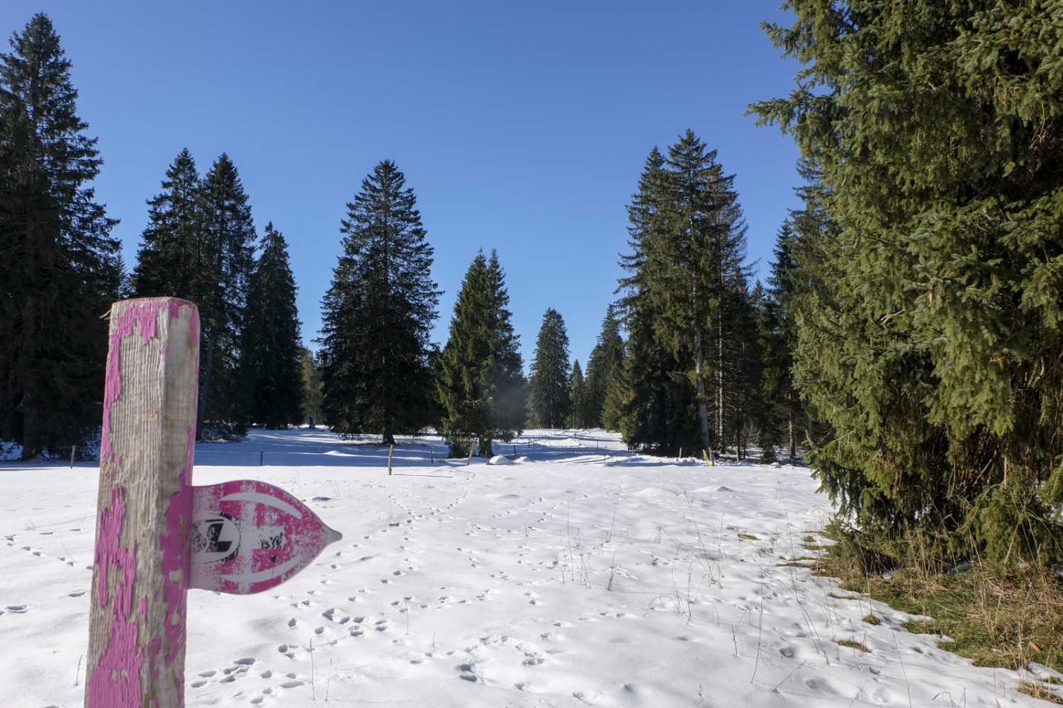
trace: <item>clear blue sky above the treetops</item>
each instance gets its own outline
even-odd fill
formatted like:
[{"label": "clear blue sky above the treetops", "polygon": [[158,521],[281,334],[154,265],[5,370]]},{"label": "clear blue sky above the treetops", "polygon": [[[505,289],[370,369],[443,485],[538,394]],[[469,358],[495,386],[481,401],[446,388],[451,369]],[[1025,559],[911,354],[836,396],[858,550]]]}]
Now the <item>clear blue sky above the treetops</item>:
[{"label": "clear blue sky above the treetops", "polygon": [[272,221],[288,240],[310,344],[345,204],[391,159],[445,291],[434,339],[476,251],[496,248],[525,365],[550,307],[586,365],[643,162],[687,128],[736,175],[766,273],[797,151],[743,113],[793,85],[759,28],[787,22],[779,2],[3,0],[0,30],[55,24],[129,267],[178,153],[203,173],[225,152],[259,234]]}]

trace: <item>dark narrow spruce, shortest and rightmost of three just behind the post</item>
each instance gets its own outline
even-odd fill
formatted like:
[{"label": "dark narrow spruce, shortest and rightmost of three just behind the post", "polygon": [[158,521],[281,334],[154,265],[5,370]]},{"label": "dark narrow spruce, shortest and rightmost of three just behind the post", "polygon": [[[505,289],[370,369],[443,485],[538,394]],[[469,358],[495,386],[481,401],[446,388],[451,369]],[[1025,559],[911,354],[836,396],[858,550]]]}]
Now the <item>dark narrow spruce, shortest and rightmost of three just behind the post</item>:
[{"label": "dark narrow spruce, shortest and rightmost of three just behind the post", "polygon": [[279,429],[303,417],[303,347],[288,244],[272,223],[266,225],[261,248],[249,282],[239,375],[251,419]]}]

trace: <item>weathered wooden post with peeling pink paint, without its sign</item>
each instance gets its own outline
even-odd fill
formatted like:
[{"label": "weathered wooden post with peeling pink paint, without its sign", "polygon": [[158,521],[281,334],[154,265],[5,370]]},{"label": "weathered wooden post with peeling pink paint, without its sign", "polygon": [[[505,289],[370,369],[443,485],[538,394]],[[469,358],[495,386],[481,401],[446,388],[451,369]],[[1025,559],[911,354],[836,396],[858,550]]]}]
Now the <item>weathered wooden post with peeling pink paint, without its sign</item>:
[{"label": "weathered wooden post with peeling pink paint, without its sign", "polygon": [[199,314],[111,308],[86,708],[184,706]]}]

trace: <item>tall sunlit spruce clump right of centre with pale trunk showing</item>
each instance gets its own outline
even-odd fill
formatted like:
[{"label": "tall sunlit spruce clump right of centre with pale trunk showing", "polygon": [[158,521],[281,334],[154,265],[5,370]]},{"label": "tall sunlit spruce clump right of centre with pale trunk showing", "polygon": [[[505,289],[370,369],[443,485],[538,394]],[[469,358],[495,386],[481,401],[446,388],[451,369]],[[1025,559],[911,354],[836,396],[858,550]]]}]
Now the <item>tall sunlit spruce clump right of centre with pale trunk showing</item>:
[{"label": "tall sunlit spruce clump right of centre with pale trunk showing", "polygon": [[[655,148],[628,207],[634,253],[621,262],[629,274],[621,280],[622,305],[635,323],[629,327],[641,328],[635,341],[652,349],[639,358],[662,368],[628,369],[634,376],[629,396],[635,398],[628,400],[624,415],[656,410],[659,425],[678,421],[686,408],[682,401],[651,405],[638,396],[657,396],[654,387],[660,390],[665,379],[678,384],[686,377],[694,390],[699,430],[699,439],[691,447],[712,450],[730,439],[741,455],[749,408],[745,392],[754,376],[746,364],[756,359],[744,334],[753,310],[744,264],[745,224],[735,178],[723,173],[715,157],[715,151],[690,131],[669,148],[667,157]],[[635,356],[634,350],[630,353]],[[678,441],[678,430],[654,434],[638,420],[626,426],[638,430],[641,444],[651,448],[671,447],[664,441]]]}]

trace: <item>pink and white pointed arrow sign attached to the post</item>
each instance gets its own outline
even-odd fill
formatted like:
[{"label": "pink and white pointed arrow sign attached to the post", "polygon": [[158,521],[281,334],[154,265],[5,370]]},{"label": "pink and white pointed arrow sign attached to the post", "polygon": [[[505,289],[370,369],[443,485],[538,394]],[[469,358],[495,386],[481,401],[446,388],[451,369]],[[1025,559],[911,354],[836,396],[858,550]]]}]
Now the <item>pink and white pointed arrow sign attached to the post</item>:
[{"label": "pink and white pointed arrow sign attached to the post", "polygon": [[256,480],[192,487],[188,587],[261,592],[342,538],[290,494]]}]

